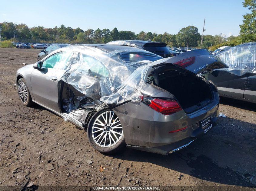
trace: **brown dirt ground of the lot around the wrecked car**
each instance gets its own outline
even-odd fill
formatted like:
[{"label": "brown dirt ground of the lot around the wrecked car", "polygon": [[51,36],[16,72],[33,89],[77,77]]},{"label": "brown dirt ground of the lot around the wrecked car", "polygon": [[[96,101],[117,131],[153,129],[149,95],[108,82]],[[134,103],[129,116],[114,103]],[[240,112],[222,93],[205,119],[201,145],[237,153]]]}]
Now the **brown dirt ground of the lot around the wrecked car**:
[{"label": "brown dirt ground of the lot around the wrecked car", "polygon": [[35,63],[39,52],[0,48],[0,186],[20,186],[25,177],[39,186],[256,185],[256,104],[221,98],[227,117],[173,154],[103,155],[85,131],[41,106],[21,104],[16,71]]}]

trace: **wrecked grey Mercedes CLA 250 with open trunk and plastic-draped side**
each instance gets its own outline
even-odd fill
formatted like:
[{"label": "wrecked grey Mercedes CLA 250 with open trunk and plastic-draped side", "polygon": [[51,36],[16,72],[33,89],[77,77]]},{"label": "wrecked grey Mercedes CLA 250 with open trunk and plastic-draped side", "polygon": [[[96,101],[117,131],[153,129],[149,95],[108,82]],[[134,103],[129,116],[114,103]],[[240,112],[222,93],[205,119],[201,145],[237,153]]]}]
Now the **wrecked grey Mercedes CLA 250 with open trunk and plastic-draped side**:
[{"label": "wrecked grey Mercedes CLA 250 with open trunk and plastic-draped side", "polygon": [[218,123],[219,95],[208,72],[227,67],[208,50],[165,58],[135,47],[58,49],[17,71],[18,96],[86,130],[101,153],[124,147],[168,154]]}]

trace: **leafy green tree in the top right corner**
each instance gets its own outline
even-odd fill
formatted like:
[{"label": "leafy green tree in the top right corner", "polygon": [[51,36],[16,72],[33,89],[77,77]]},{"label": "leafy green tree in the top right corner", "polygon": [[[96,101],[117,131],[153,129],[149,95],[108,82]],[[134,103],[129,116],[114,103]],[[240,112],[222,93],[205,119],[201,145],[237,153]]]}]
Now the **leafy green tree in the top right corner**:
[{"label": "leafy green tree in the top right corner", "polygon": [[243,24],[239,25],[243,42],[256,41],[256,0],[244,0],[244,7],[248,7],[251,13],[243,15]]}]

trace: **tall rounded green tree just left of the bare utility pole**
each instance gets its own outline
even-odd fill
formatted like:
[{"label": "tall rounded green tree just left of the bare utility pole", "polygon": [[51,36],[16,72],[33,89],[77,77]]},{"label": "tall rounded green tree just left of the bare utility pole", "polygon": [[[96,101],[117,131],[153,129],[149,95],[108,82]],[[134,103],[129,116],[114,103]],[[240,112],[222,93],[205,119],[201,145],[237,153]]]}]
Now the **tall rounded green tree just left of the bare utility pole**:
[{"label": "tall rounded green tree just left of the bare utility pole", "polygon": [[200,34],[198,28],[195,26],[188,26],[182,28],[178,34],[176,34],[176,43],[178,46],[197,46]]}]

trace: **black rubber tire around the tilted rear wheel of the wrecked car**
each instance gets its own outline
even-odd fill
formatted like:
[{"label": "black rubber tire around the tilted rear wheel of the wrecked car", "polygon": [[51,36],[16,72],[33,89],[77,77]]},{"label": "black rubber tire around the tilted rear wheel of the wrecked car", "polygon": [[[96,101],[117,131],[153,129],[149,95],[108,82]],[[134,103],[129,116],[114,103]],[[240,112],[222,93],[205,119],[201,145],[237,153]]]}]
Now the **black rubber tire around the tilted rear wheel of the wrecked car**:
[{"label": "black rubber tire around the tilted rear wheel of the wrecked car", "polygon": [[111,109],[103,109],[103,110],[100,110],[98,112],[96,112],[90,122],[89,122],[89,125],[88,125],[88,129],[87,129],[87,135],[88,135],[88,138],[89,138],[89,142],[91,143],[91,146],[103,153],[103,154],[116,154],[118,152],[122,152],[125,150],[125,137],[124,135],[122,135],[122,137],[120,138],[120,140],[113,146],[109,146],[109,147],[101,147],[99,145],[97,145],[95,143],[95,141],[93,140],[93,137],[92,137],[92,127],[93,127],[93,124],[95,122],[95,120],[97,119],[98,116],[100,116],[102,113],[105,113],[106,111],[113,111]]}]

